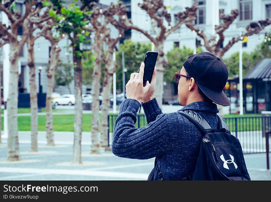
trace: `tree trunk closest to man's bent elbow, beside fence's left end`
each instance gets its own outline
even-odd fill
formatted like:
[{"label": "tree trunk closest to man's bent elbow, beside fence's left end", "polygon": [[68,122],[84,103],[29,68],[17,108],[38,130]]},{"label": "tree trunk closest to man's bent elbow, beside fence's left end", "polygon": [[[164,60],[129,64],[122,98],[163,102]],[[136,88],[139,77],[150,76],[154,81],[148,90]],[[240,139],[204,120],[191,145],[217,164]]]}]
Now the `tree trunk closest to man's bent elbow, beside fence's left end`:
[{"label": "tree trunk closest to man's bent elbow, beside fence's left end", "polygon": [[101,147],[108,147],[108,109],[110,107],[110,90],[113,81],[113,73],[115,72],[115,62],[113,61],[113,54],[108,51],[107,63],[105,64],[105,75],[103,79],[103,102],[101,115]]}]

